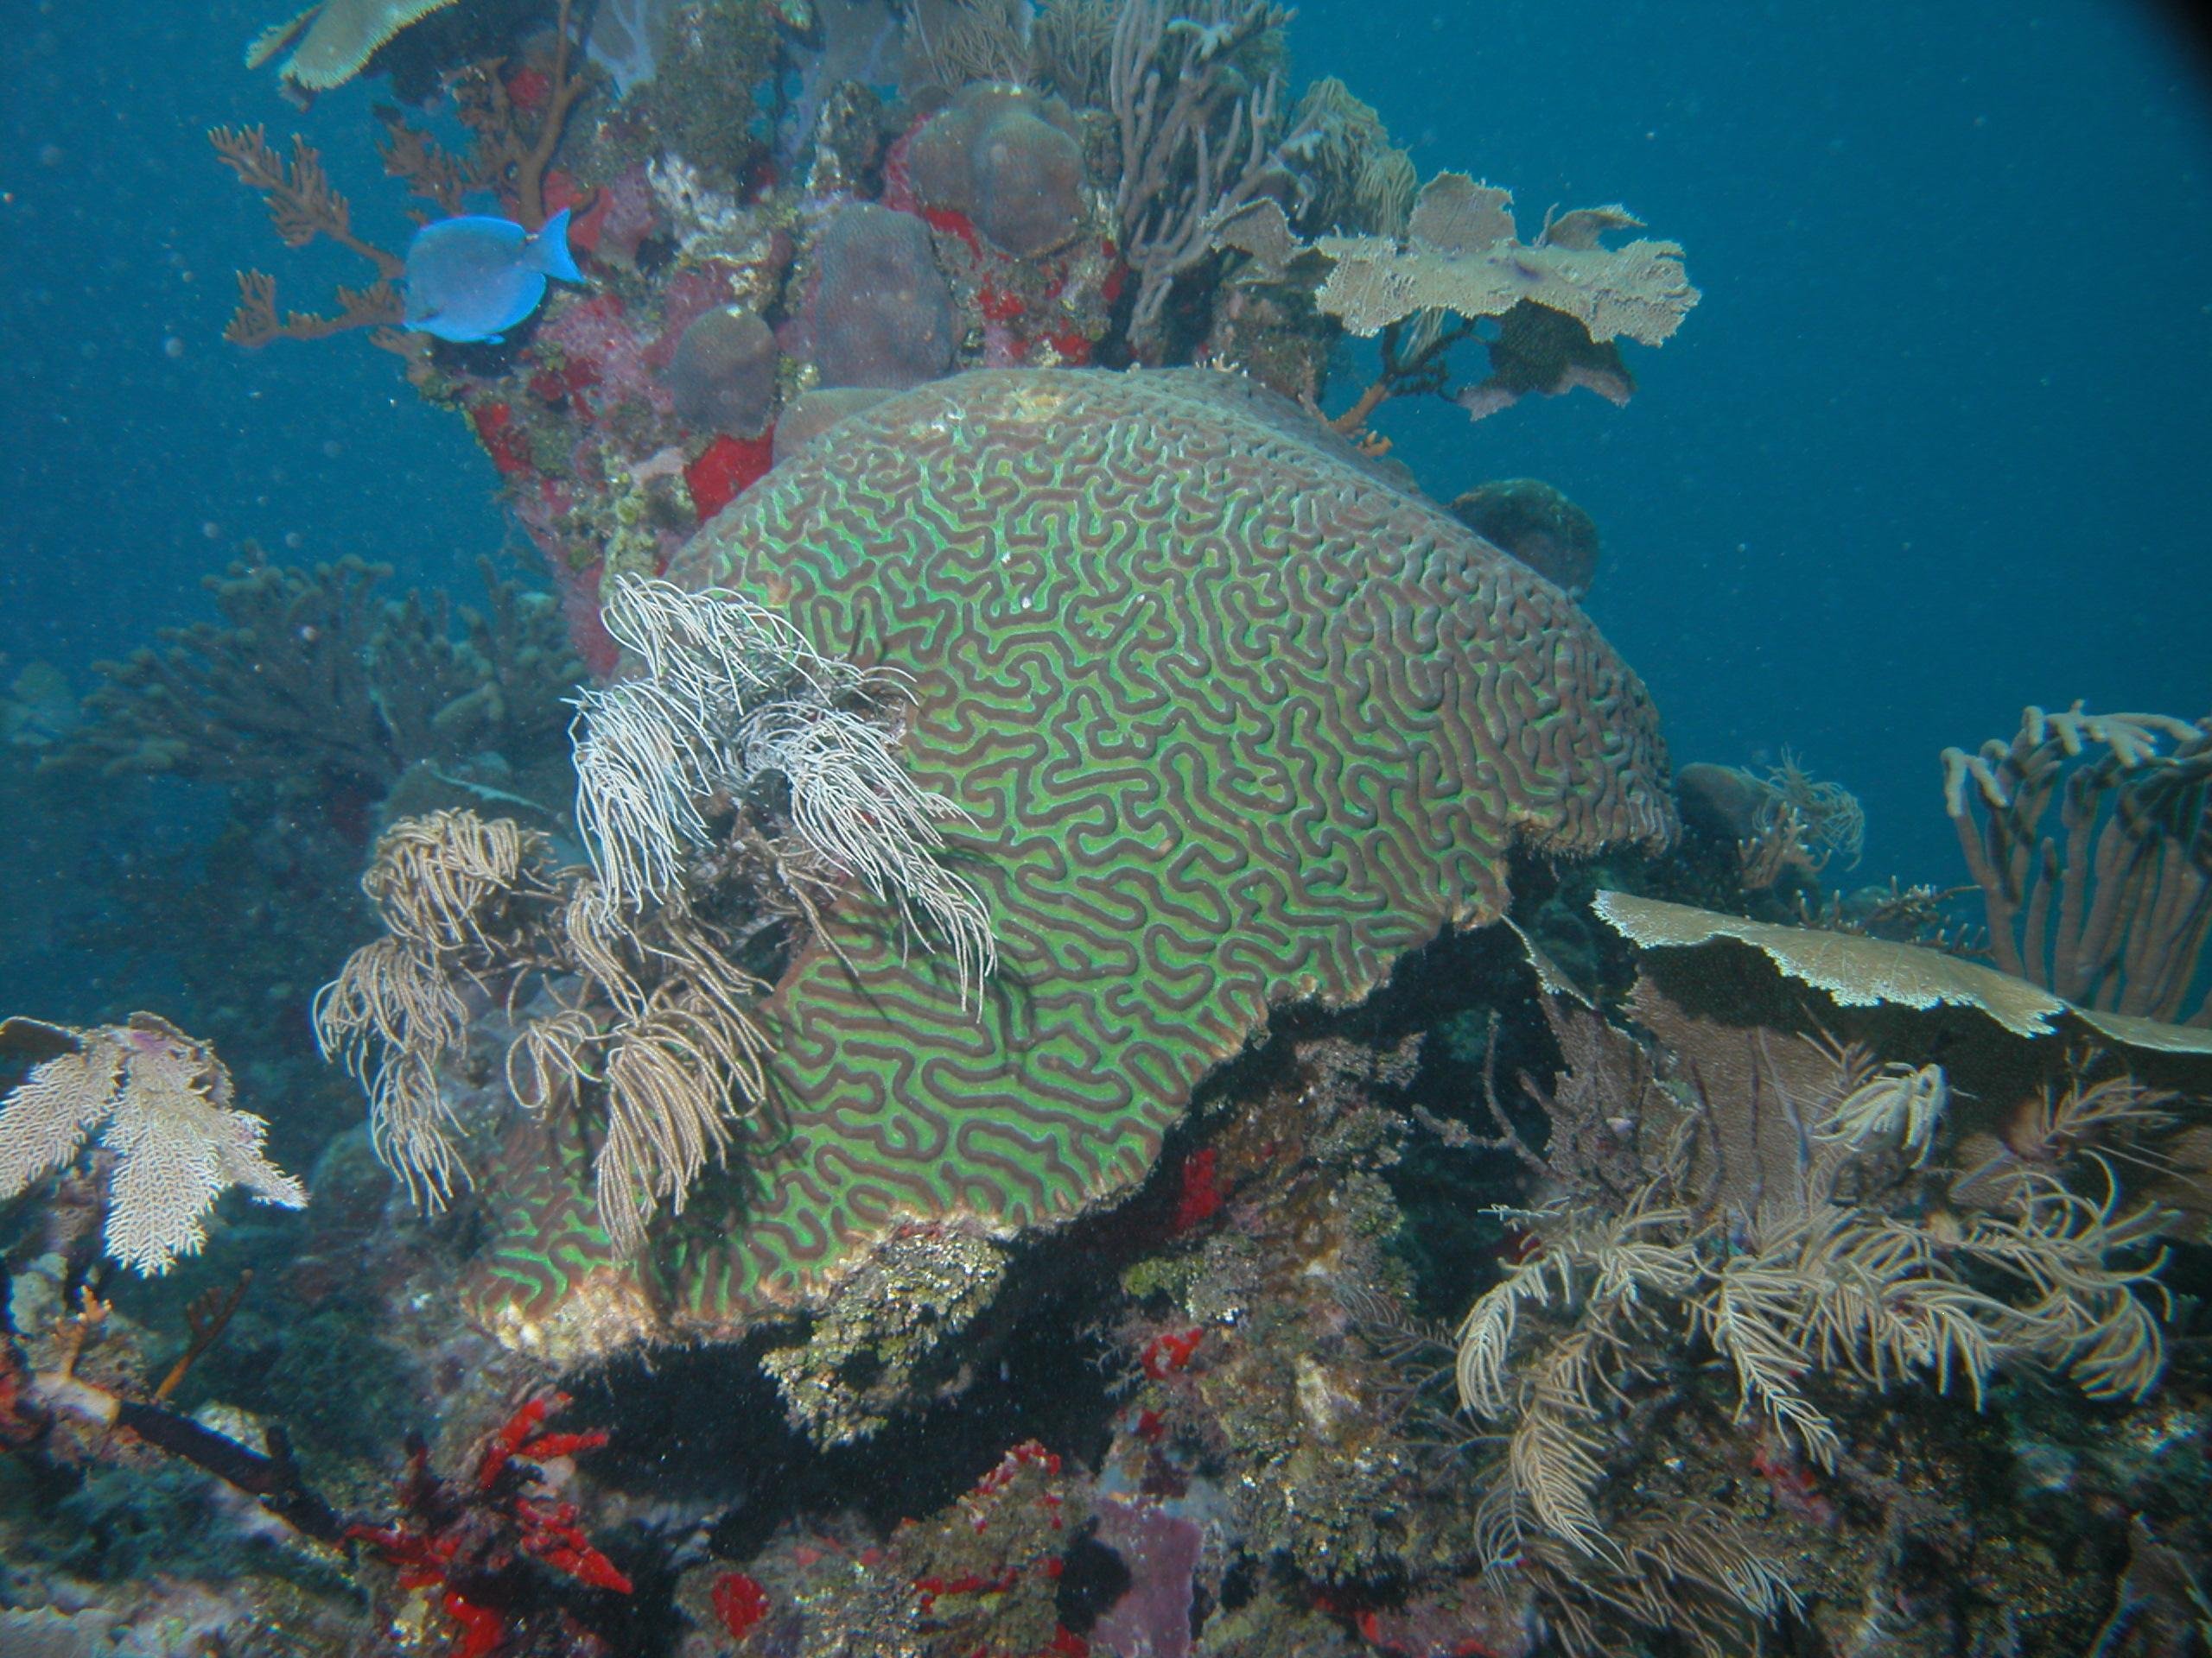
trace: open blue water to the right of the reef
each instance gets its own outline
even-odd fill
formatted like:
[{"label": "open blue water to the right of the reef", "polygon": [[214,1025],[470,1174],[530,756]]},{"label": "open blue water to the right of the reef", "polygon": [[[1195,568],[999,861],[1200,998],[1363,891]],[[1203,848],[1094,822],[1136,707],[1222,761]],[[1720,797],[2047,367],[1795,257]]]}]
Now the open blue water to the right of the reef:
[{"label": "open blue water to the right of the reef", "polygon": [[1312,4],[1298,44],[1422,175],[1688,248],[1626,409],[1433,405],[1402,449],[1597,517],[1588,608],[1677,763],[1792,745],[1867,802],[1863,873],[1947,882],[1944,745],[2212,707],[2212,82],[2170,18]]}]

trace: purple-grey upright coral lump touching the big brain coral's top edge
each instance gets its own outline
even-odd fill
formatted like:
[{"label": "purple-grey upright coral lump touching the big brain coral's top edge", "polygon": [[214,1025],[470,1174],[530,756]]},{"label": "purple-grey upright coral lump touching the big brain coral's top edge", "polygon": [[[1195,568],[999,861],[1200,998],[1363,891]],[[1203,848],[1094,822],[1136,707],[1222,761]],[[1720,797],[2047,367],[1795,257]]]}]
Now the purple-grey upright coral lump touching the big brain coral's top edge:
[{"label": "purple-grey upright coral lump touching the big brain coral's top edge", "polygon": [[953,294],[922,221],[854,201],[816,250],[814,363],[823,385],[905,391],[953,360]]}]

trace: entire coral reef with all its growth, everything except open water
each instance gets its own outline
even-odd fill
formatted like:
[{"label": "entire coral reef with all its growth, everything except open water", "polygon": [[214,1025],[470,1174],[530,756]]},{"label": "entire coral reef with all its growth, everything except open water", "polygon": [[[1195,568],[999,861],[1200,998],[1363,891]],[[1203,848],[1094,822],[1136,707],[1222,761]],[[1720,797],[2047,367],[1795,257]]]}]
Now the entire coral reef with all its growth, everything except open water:
[{"label": "entire coral reef with all its growth, everything except open water", "polygon": [[1681,248],[1290,22],[252,44],[418,228],[215,130],[363,263],[230,340],[389,351],[531,550],[15,681],[122,966],[0,1026],[0,1649],[2205,1647],[2212,721],[1947,752],[1949,889],[1670,769],[1590,517],[1383,427],[1626,400]]}]

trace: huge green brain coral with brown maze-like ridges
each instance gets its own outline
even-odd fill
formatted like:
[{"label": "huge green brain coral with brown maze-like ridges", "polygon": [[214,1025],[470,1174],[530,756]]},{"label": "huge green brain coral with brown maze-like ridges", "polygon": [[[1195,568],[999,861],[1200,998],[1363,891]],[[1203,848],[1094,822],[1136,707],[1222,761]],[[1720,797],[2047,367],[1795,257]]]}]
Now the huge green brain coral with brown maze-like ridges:
[{"label": "huge green brain coral with brown maze-like ridges", "polygon": [[[1223,374],[889,398],[670,577],[914,676],[905,760],[973,814],[958,869],[1000,937],[978,1017],[949,959],[841,904],[768,1006],[781,1130],[664,1260],[681,1331],[816,1298],[909,1220],[1011,1234],[1128,1192],[1270,1006],[1358,1001],[1500,915],[1515,840],[1672,831],[1652,705],[1588,619]],[[509,1214],[513,1315],[588,1271],[575,1216]]]}]

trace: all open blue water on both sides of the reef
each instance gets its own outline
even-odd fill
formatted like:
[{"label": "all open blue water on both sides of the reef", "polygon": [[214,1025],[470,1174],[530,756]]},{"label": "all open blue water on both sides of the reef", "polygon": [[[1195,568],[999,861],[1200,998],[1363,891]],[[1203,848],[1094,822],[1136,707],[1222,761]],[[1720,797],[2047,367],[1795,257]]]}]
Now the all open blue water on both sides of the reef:
[{"label": "all open blue water on both sides of the reef", "polygon": [[[82,679],[201,615],[243,537],[451,581],[507,535],[462,422],[361,338],[219,338],[270,250],[206,126],[307,133],[365,234],[407,228],[361,137],[378,93],[294,119],[239,64],[263,11],[44,0],[0,40],[15,668]],[[1524,221],[1621,201],[1688,248],[1703,305],[1630,351],[1630,407],[1385,422],[1433,493],[1540,475],[1588,506],[1590,610],[1677,760],[1792,745],[1865,798],[1869,875],[1940,882],[1942,745],[2031,701],[2203,712],[2212,91],[2163,13],[1310,0],[1296,71]],[[281,272],[301,303],[354,274],[327,245]]]}]

